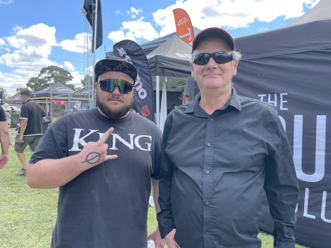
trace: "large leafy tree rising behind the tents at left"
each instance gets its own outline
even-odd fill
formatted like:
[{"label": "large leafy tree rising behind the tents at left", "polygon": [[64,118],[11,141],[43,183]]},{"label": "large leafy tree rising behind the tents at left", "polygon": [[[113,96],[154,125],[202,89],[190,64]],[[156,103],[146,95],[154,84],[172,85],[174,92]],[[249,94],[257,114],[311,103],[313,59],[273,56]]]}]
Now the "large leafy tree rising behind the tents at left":
[{"label": "large leafy tree rising behind the tents at left", "polygon": [[73,76],[67,70],[57,66],[48,66],[40,70],[38,77],[30,78],[29,82],[26,83],[26,86],[33,92],[36,92],[59,81],[67,87],[75,89],[75,86],[72,83],[68,83],[72,79]]}]

